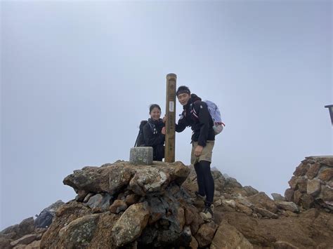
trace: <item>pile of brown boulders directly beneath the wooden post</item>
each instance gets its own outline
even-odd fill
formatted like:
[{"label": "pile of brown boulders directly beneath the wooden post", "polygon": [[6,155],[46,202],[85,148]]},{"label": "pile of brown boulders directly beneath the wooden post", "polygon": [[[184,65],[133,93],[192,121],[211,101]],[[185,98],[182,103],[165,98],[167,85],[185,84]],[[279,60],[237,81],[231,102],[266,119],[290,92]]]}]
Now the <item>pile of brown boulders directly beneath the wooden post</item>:
[{"label": "pile of brown boulders directly beneath the wooden post", "polygon": [[189,173],[181,162],[75,170],[63,182],[76,200],[58,209],[41,248],[170,248],[189,246],[193,236],[209,245],[217,225],[204,224],[181,187]]}]

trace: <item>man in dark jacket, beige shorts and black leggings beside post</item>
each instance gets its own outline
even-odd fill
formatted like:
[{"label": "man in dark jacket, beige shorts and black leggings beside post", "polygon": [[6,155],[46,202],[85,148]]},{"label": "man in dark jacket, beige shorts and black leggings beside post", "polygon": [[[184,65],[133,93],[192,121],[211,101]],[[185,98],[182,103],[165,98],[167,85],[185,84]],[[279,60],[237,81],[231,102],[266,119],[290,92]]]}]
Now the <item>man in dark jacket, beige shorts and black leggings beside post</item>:
[{"label": "man in dark jacket, beige shorts and black leggings beside post", "polygon": [[214,199],[214,179],[211,176],[211,154],[213,152],[215,133],[213,120],[209,114],[207,104],[201,98],[191,94],[187,86],[180,86],[176,92],[178,101],[183,105],[183,113],[176,124],[176,132],[181,133],[187,126],[192,132],[191,165],[197,174],[197,198],[204,198],[204,210],[200,213],[204,220],[214,217],[211,204]]}]

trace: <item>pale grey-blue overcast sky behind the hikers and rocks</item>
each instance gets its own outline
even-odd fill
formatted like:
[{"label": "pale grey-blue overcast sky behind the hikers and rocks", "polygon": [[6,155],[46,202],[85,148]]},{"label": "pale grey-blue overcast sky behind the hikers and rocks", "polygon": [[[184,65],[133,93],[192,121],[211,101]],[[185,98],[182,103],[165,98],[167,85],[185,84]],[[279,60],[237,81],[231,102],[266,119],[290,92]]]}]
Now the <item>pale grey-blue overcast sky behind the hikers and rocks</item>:
[{"label": "pale grey-blue overcast sky behind the hikers and rocks", "polygon": [[283,195],[333,154],[332,1],[1,1],[0,229],[74,198],[73,170],[129,161],[169,73],[220,107],[211,166],[243,186]]}]

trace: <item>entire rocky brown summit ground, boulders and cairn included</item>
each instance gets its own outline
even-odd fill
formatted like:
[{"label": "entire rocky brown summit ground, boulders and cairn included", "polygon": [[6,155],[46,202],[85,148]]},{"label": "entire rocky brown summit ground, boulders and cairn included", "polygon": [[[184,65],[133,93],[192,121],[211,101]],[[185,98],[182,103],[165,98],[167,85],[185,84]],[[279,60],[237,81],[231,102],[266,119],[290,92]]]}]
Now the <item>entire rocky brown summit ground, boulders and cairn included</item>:
[{"label": "entire rocky brown summit ground, boulders and cairn included", "polygon": [[74,170],[77,193],[48,228],[32,217],[0,233],[0,248],[333,248],[333,157],[308,157],[285,196],[214,171],[214,220],[199,213],[195,172],[181,162],[117,161]]}]

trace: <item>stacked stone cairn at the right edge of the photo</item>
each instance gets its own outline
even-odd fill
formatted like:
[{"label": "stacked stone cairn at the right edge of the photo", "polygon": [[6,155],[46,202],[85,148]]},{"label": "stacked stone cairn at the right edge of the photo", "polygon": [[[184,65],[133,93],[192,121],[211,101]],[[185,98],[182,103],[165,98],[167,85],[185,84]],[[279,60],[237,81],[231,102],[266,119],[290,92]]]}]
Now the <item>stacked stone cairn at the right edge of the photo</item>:
[{"label": "stacked stone cairn at the right edge of the photo", "polygon": [[322,207],[333,211],[333,156],[308,156],[296,168],[290,188],[285,191],[287,201],[304,209]]}]

